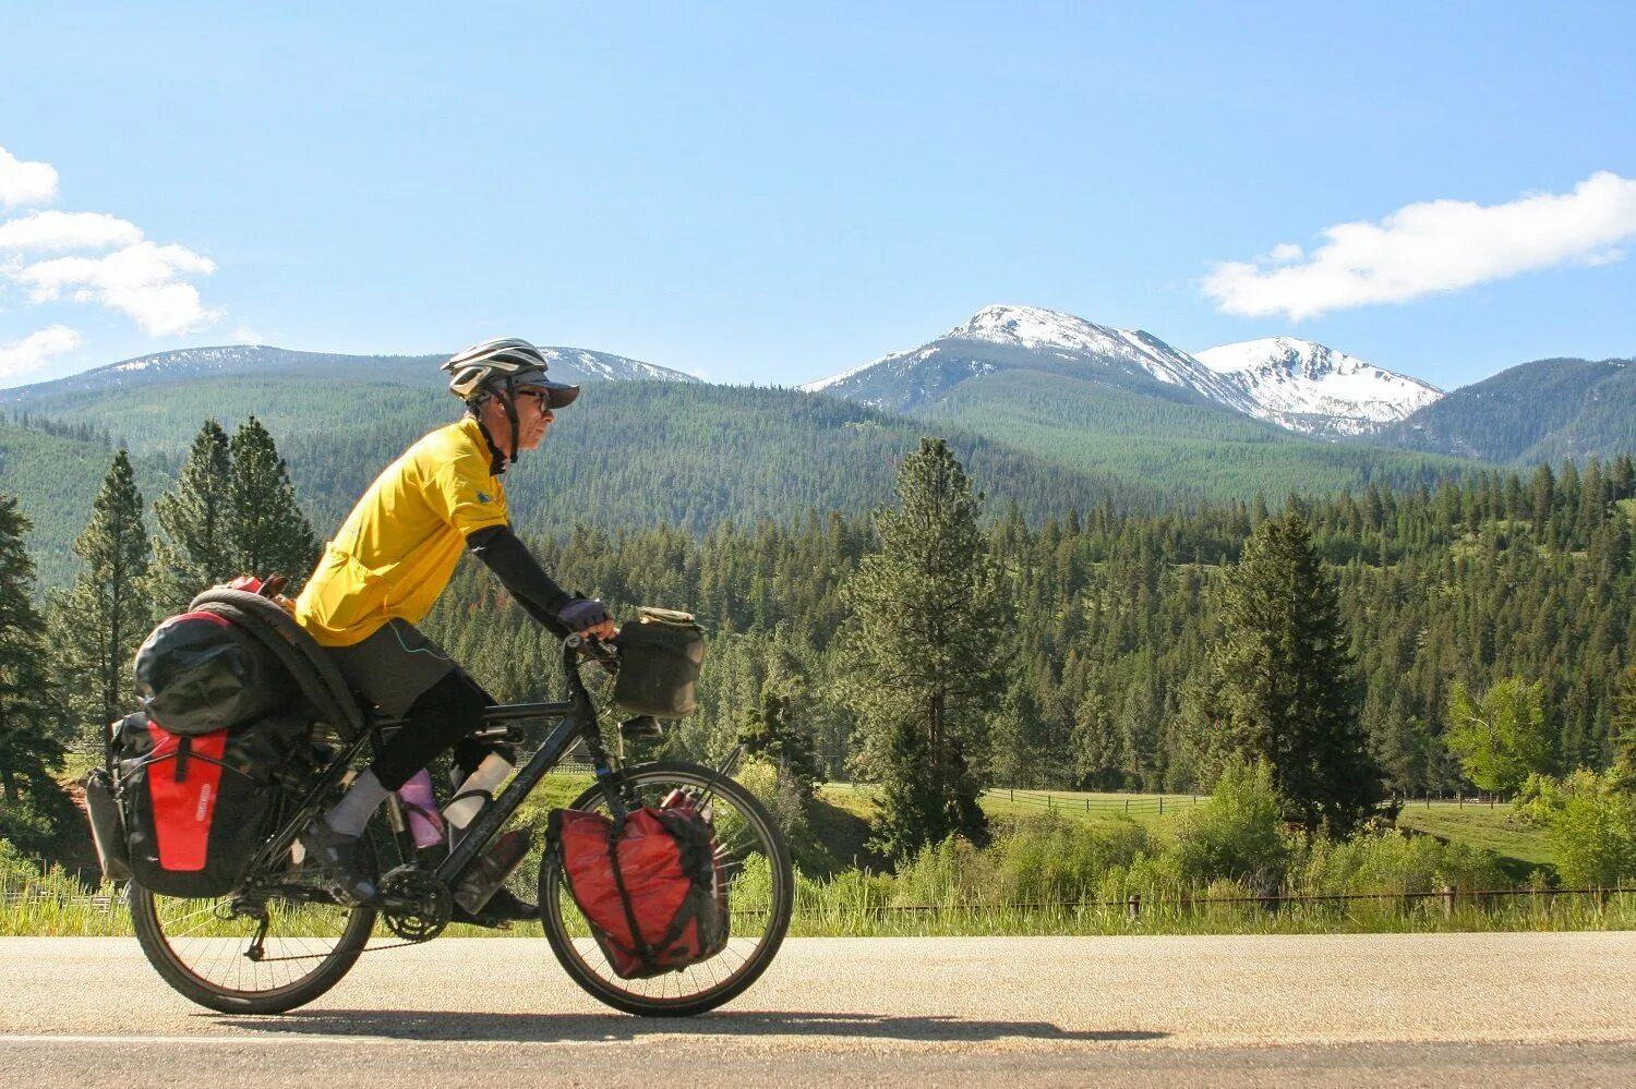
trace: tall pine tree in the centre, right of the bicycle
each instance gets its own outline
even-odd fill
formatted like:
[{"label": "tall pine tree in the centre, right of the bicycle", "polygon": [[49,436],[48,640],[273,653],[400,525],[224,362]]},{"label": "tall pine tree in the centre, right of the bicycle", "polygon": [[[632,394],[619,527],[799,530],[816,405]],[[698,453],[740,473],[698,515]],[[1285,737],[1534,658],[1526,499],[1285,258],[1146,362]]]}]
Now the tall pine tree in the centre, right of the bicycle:
[{"label": "tall pine tree in the centre, right of the bicycle", "polygon": [[977,798],[1008,623],[977,528],[982,497],[944,440],[921,440],[897,494],[897,509],[875,512],[880,549],[844,590],[854,669],[843,683],[861,769],[882,783],[875,845],[903,857],[985,829]]}]

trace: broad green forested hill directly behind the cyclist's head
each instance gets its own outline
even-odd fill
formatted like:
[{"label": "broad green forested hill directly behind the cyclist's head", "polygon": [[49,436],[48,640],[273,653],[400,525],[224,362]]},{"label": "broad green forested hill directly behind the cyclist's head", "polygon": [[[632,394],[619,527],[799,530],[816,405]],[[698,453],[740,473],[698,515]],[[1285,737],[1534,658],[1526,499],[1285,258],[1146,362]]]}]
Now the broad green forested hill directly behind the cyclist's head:
[{"label": "broad green forested hill directly behind the cyclist's head", "polygon": [[[455,419],[460,407],[437,389],[366,394],[342,384],[352,419],[342,425],[303,424],[337,386],[299,376],[254,384],[221,376],[160,388],[178,409],[170,430],[152,427],[146,453],[134,456],[147,502],[175,484],[182,451],[206,415],[232,422],[249,412],[265,422],[319,538],[334,533],[368,482],[411,441]],[[357,394],[357,401],[352,396]],[[249,397],[249,399],[245,399]],[[154,406],[136,397],[141,419]],[[275,409],[275,410],[268,410]],[[275,422],[276,420],[276,422]],[[70,438],[59,419],[0,419],[0,494],[20,497],[34,522],[28,548],[43,587],[62,585],[79,571],[70,544],[90,518],[92,500],[113,448],[105,438]],[[576,527],[620,530],[669,527],[705,536],[721,523],[790,523],[810,512],[861,515],[890,502],[898,466],[924,425],[865,406],[813,397],[793,389],[705,383],[602,383],[564,410],[546,443],[506,476],[512,518],[525,535],[566,536]],[[1181,489],[1122,474],[1078,471],[960,427],[942,427],[967,469],[993,495],[991,510],[1016,504],[1044,520],[1104,500],[1122,509],[1170,509]],[[679,559],[677,559],[679,562]]]}]

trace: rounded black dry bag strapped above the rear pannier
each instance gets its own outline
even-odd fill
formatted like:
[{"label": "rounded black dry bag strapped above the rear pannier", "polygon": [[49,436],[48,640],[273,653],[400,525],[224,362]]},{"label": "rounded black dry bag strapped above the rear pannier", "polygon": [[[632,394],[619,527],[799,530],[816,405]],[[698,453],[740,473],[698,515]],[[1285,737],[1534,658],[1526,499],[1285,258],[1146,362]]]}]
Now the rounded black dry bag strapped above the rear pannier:
[{"label": "rounded black dry bag strapped above the rear pannier", "polygon": [[136,695],[172,734],[208,734],[280,710],[294,685],[283,666],[226,616],[170,616],[136,652]]}]

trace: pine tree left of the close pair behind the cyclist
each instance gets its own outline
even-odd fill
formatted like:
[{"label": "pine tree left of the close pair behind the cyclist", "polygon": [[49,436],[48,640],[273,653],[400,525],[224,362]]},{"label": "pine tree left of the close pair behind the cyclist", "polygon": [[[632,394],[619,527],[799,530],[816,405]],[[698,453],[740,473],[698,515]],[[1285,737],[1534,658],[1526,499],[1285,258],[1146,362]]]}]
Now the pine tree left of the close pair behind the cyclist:
[{"label": "pine tree left of the close pair behind the cyclist", "polygon": [[52,628],[72,680],[69,706],[90,733],[134,708],[131,661],[154,620],[142,495],[123,450],[74,553],[85,567],[67,594],[52,598]]}]

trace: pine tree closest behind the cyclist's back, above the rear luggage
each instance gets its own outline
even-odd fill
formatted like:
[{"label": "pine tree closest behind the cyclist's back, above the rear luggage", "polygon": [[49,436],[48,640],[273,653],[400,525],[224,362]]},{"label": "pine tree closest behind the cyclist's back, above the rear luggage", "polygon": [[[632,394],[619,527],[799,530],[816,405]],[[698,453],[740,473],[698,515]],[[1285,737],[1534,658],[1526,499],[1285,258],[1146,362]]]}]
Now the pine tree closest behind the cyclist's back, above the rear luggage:
[{"label": "pine tree closest behind the cyclist's back, above the rear luggage", "polygon": [[232,559],[239,574],[290,577],[291,590],[317,562],[312,525],[273,437],[254,415],[232,433]]}]

